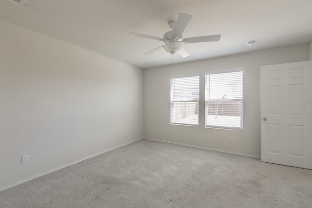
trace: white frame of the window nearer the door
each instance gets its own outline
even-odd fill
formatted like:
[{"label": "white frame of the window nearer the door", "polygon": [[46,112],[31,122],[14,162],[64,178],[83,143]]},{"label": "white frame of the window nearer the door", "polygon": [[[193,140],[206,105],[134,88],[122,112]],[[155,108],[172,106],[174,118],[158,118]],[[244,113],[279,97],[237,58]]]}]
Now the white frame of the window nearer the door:
[{"label": "white frame of the window nearer the door", "polygon": [[[216,75],[216,74],[226,74],[226,73],[235,73],[235,72],[241,72],[241,98],[239,99],[207,99],[206,97],[206,91],[207,91],[207,75]],[[213,128],[213,129],[226,129],[226,130],[243,130],[244,129],[244,71],[242,69],[240,70],[231,70],[231,71],[215,71],[215,72],[209,72],[205,74],[204,77],[205,81],[205,128]],[[240,127],[234,127],[234,126],[226,126],[226,125],[213,125],[208,123],[208,102],[240,102]]]}]

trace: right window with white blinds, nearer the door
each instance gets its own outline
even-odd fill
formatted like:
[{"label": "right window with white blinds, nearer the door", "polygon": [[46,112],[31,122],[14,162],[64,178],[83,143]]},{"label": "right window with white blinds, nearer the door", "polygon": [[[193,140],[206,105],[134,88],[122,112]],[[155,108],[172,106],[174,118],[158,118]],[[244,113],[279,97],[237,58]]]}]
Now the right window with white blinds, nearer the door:
[{"label": "right window with white blinds, nearer the door", "polygon": [[243,129],[243,72],[205,77],[206,127]]}]

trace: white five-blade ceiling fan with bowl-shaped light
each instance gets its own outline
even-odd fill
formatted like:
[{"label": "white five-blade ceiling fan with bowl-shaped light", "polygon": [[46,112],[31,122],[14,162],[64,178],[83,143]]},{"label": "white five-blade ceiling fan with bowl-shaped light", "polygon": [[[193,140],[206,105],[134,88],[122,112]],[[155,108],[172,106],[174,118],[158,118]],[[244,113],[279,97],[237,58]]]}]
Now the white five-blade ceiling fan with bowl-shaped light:
[{"label": "white five-blade ceiling fan with bowl-shaped light", "polygon": [[182,38],[183,31],[185,30],[186,26],[189,24],[191,19],[192,19],[192,15],[180,13],[176,22],[171,21],[168,23],[171,31],[165,33],[163,38],[147,36],[147,35],[143,35],[139,33],[129,33],[129,36],[159,40],[159,41],[163,41],[164,43],[166,43],[164,45],[161,45],[145,53],[144,55],[153,54],[154,52],[160,50],[163,47],[166,52],[170,54],[179,53],[182,57],[190,56],[190,54],[183,48],[181,43],[212,42],[212,41],[220,40],[221,35]]}]

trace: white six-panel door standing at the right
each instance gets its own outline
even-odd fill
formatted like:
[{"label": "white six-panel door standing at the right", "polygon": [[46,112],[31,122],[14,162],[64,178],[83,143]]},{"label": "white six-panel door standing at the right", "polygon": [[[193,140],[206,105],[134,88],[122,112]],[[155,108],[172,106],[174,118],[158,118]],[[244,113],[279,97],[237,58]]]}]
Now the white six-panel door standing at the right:
[{"label": "white six-panel door standing at the right", "polygon": [[311,61],[261,67],[261,161],[312,169]]}]

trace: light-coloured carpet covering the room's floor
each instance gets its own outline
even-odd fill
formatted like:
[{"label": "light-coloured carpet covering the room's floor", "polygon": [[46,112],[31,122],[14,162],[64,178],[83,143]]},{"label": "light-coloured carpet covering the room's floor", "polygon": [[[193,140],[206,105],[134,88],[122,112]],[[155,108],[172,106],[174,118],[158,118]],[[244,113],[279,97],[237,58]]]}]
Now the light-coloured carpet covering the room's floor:
[{"label": "light-coloured carpet covering the room's floor", "polygon": [[0,192],[1,208],[312,208],[312,170],[142,139]]}]

